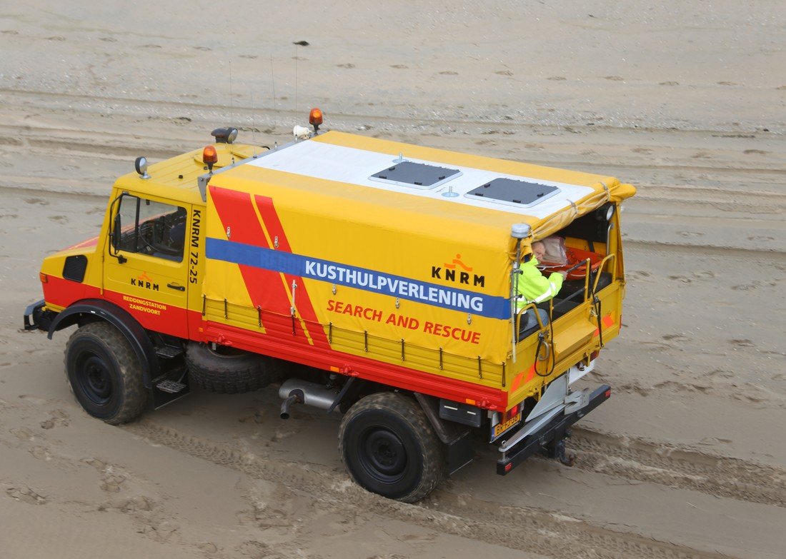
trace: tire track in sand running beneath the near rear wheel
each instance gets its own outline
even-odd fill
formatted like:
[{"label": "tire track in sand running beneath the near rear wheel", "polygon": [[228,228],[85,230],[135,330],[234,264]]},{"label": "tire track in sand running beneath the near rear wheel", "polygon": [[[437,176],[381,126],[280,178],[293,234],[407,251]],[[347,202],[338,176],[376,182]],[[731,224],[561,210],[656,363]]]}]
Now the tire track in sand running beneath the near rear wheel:
[{"label": "tire track in sand running beneath the near rear wheel", "polygon": [[[335,469],[314,464],[285,462],[193,437],[147,419],[121,429],[150,444],[160,444],[250,477],[285,484],[314,495],[316,499],[358,514],[376,513],[399,521],[417,522],[439,532],[542,554],[553,559],[585,557],[592,549],[597,557],[674,557],[675,559],[721,559],[711,551],[660,542],[643,535],[614,532],[576,518],[540,510],[483,502],[469,495],[435,491],[418,505],[384,499],[351,484]],[[555,545],[555,539],[559,544]]]}]

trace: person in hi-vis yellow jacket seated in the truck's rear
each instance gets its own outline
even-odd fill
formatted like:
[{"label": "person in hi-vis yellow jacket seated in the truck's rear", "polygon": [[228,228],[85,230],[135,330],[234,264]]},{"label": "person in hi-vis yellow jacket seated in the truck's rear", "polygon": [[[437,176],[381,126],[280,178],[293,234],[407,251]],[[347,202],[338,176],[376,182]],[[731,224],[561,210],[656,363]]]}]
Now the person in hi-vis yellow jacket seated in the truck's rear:
[{"label": "person in hi-vis yellow jacket seated in the truck's rear", "polygon": [[[519,280],[516,283],[516,295],[518,295],[516,309],[523,309],[530,303],[548,301],[560,292],[562,281],[567,273],[553,272],[548,278],[545,277],[537,268],[538,260],[543,258],[544,254],[545,245],[540,241],[535,241],[532,243],[531,257],[525,257],[521,262]],[[549,313],[545,310],[538,309],[538,315],[540,315],[543,324],[549,322]],[[534,309],[527,309],[527,312],[524,312],[520,318],[519,335],[534,326],[538,326]]]}]

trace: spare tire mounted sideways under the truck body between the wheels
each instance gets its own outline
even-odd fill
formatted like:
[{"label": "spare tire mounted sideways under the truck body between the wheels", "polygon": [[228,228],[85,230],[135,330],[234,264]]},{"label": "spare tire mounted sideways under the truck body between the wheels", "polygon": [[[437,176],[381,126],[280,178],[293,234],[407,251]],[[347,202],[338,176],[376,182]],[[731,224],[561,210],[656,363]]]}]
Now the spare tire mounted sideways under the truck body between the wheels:
[{"label": "spare tire mounted sideways under the truck body between the wheels", "polygon": [[253,392],[284,377],[287,363],[248,352],[222,354],[208,345],[190,342],[185,364],[196,385],[219,394]]}]

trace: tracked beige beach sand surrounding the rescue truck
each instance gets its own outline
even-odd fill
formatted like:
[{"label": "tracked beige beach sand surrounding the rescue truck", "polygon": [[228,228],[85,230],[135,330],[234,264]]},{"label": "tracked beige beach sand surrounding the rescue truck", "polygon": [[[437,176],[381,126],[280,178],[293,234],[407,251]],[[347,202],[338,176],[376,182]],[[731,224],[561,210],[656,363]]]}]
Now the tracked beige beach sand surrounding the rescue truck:
[{"label": "tracked beige beach sand surrounding the rescue truck", "polygon": [[[0,16],[0,557],[783,557],[782,2],[26,2]],[[296,46],[307,41],[308,46]],[[272,71],[271,71],[272,70]],[[230,82],[231,73],[231,82]],[[339,415],[273,388],[128,426],[20,329],[114,178],[233,124],[325,126],[613,174],[623,334],[572,468],[479,449],[417,505],[351,484]]]}]

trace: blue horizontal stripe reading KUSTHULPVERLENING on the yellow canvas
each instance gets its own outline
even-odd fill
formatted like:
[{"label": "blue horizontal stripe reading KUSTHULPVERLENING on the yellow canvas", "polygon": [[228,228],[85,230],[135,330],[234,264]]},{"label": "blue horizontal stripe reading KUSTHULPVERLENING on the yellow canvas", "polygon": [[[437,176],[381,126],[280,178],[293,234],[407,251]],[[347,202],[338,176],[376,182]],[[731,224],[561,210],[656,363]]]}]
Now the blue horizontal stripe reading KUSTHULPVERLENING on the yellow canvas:
[{"label": "blue horizontal stripe reading KUSTHULPVERLENING on the yellow canvas", "polygon": [[510,318],[510,303],[504,297],[455,289],[437,283],[428,283],[281,250],[234,243],[225,239],[208,237],[205,247],[207,257],[212,260],[318,279],[327,283],[345,285],[488,318],[503,320]]}]

